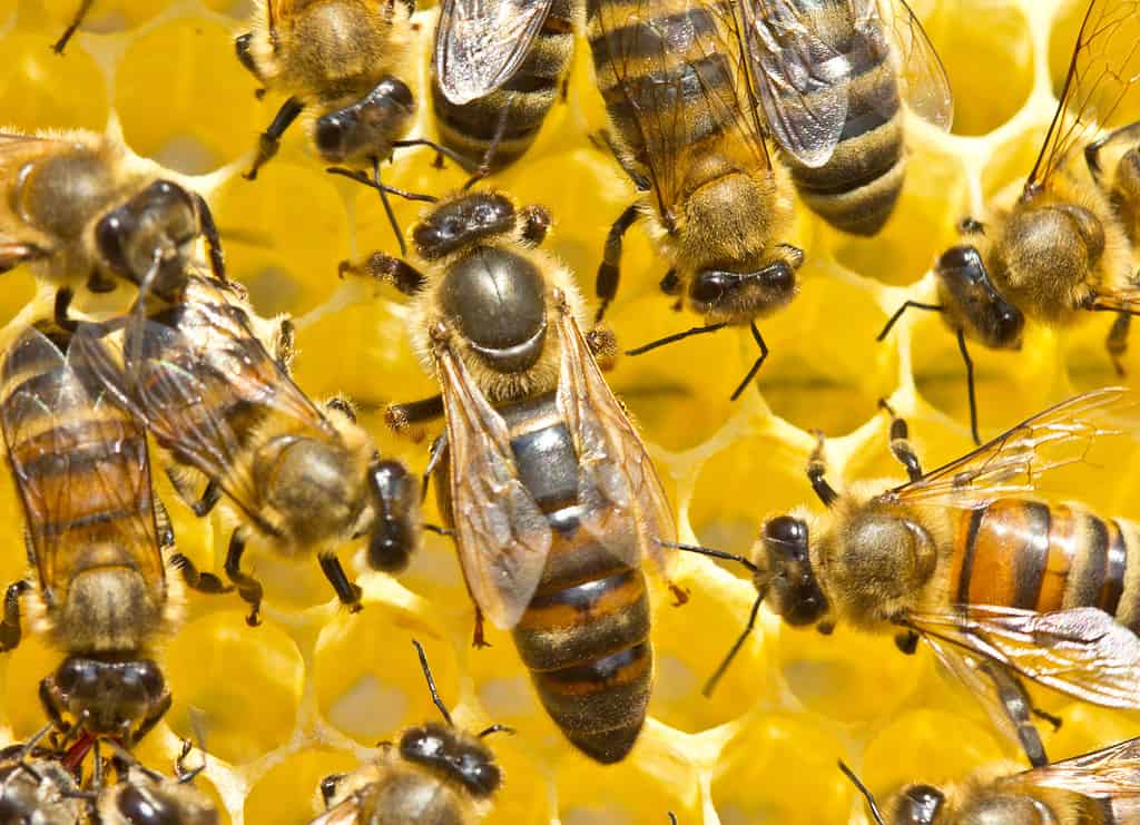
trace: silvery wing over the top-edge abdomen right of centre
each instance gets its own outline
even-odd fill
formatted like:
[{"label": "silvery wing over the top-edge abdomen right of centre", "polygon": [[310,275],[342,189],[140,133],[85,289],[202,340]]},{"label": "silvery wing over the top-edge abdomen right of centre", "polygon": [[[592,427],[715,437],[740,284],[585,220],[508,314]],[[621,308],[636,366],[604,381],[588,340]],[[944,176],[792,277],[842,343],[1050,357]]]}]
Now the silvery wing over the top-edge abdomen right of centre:
[{"label": "silvery wing over the top-edge abdomen right of centre", "polygon": [[819,9],[793,0],[744,0],[749,68],[768,130],[806,166],[831,158],[847,122],[852,64],[819,33]]}]

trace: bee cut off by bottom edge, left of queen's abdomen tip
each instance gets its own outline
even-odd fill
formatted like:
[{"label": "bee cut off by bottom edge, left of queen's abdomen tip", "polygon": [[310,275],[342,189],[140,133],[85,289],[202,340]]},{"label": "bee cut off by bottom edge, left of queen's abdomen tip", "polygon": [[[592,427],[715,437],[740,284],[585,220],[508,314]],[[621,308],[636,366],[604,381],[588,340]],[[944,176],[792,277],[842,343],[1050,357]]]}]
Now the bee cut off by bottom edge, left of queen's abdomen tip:
[{"label": "bee cut off by bottom edge, left of queen's abdomen tip", "polygon": [[432,701],[446,725],[408,728],[399,744],[381,743],[380,759],[351,774],[333,774],[320,783],[326,811],[311,825],[381,825],[424,823],[462,825],[483,818],[491,797],[503,785],[503,771],[482,740],[508,732],[492,725],[478,735],[455,727],[435,692],[427,659],[413,642]]}]

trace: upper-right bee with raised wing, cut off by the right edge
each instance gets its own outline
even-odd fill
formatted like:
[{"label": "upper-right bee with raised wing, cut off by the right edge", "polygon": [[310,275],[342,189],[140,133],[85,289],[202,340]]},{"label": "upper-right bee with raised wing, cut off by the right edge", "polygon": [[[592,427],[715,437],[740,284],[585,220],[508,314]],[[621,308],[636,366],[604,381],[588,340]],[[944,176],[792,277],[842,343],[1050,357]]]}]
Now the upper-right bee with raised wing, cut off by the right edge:
[{"label": "upper-right bee with raised wing, cut off by the right edge", "polygon": [[[967,341],[1018,350],[1027,319],[1065,327],[1088,311],[1119,312],[1107,348],[1123,375],[1129,319],[1140,311],[1132,261],[1140,230],[1140,123],[1090,138],[1097,119],[1109,119],[1140,81],[1140,54],[1129,46],[1135,32],[1122,27],[1138,15],[1137,0],[1089,3],[1060,103],[1020,196],[1011,205],[999,198],[985,220],[963,219],[963,243],[935,264],[937,303],[905,302],[879,335],[881,341],[907,309],[942,313],[966,362],[977,443]],[[1127,54],[1119,65],[1110,57],[1117,47]]]}]

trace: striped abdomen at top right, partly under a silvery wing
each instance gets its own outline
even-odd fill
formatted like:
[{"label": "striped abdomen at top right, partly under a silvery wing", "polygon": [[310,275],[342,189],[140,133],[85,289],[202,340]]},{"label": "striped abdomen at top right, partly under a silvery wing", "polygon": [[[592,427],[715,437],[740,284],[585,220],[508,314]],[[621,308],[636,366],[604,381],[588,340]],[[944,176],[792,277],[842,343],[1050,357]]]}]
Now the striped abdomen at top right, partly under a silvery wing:
[{"label": "striped abdomen at top right, partly under a silvery wing", "polygon": [[839,145],[822,166],[805,166],[788,153],[783,158],[813,212],[845,232],[874,235],[890,218],[905,177],[898,79],[882,32],[876,36],[857,31],[842,19],[842,9],[817,14],[817,36],[849,66],[849,76],[837,81],[846,87],[846,95],[840,93],[847,100],[847,120]]}]

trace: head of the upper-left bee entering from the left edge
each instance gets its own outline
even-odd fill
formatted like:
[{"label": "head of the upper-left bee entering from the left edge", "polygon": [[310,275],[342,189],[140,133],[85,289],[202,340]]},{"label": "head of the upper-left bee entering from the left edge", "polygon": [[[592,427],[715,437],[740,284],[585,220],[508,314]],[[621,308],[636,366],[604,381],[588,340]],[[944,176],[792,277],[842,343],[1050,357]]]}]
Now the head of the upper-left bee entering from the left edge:
[{"label": "head of the upper-left bee entering from the left edge", "polygon": [[168,295],[182,285],[187,247],[201,234],[194,197],[178,183],[156,180],[104,215],[95,240],[106,266],[132,284],[142,284],[157,267],[150,288]]}]

